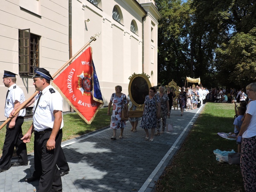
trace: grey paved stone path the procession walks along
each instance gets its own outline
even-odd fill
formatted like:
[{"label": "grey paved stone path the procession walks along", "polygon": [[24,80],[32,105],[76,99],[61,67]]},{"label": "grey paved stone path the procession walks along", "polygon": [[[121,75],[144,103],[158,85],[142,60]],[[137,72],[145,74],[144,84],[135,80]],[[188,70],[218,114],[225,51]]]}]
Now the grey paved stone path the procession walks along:
[{"label": "grey paved stone path the procession walks along", "polygon": [[[184,116],[180,116],[180,110],[171,110],[167,123],[173,124],[174,131],[155,136],[153,142],[145,140],[140,122],[137,132],[131,132],[129,121],[123,139],[110,140],[113,131],[106,127],[63,142],[70,167],[69,174],[62,177],[63,192],[153,192],[155,182],[180,148],[202,108],[185,111]],[[0,173],[0,192],[37,191],[38,181],[24,180],[33,171],[34,158],[30,154],[27,166],[11,167]]]}]

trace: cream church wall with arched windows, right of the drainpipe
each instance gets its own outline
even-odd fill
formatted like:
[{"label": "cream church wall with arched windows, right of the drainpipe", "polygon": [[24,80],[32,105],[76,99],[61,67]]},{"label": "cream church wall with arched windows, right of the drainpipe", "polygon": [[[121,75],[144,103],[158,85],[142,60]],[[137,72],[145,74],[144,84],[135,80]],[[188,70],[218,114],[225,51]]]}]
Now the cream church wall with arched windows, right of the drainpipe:
[{"label": "cream church wall with arched windows, right of the drainpipe", "polygon": [[[99,1],[98,1],[99,2]],[[121,23],[112,18],[114,6],[120,8]],[[151,3],[151,6],[154,6]],[[100,81],[105,105],[115,86],[121,85],[128,94],[129,77],[143,71],[151,76],[152,85],[157,85],[157,21],[141,10],[132,0],[101,1],[100,8],[87,0],[72,1],[72,50],[77,52],[90,37],[102,32],[91,43],[93,61]],[[75,13],[74,13],[75,11]],[[143,65],[143,21],[144,19],[144,65]],[[89,18],[90,22],[85,22]],[[137,34],[130,31],[131,21],[137,24]],[[154,23],[154,42],[151,41],[151,23]],[[78,35],[74,35],[74,31]],[[153,50],[152,50],[153,48]],[[144,68],[143,68],[144,66]],[[153,73],[153,75],[151,75]]]}]

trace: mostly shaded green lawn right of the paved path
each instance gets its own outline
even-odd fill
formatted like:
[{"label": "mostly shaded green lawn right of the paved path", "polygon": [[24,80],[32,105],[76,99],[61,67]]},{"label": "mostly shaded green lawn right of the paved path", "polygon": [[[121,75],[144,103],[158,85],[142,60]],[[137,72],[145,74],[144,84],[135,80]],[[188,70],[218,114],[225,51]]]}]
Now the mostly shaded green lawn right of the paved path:
[{"label": "mostly shaded green lawn right of the paved path", "polygon": [[217,135],[233,132],[234,104],[207,103],[181,149],[158,180],[156,192],[243,191],[239,165],[216,161],[213,151],[237,152],[236,141]]}]

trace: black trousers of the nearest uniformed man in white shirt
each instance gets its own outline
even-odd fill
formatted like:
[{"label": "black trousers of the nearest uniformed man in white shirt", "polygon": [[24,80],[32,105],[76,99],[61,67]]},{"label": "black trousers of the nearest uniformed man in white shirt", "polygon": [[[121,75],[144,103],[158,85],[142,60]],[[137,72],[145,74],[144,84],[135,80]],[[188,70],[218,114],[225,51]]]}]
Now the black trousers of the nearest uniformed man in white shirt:
[{"label": "black trousers of the nearest uniformed man in white shirt", "polygon": [[[62,191],[61,176],[57,167],[59,151],[61,149],[62,129],[55,138],[55,149],[48,151],[46,143],[52,131],[35,131],[34,151],[41,160],[42,175],[39,181],[38,192]],[[36,157],[35,157],[36,158]]]}]

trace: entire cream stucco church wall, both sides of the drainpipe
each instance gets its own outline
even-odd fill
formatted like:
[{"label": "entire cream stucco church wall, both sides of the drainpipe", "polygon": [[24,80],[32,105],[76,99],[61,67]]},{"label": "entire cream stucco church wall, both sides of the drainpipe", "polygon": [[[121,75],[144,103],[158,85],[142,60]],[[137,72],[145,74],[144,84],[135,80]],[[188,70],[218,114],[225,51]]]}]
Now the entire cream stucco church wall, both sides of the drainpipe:
[{"label": "entire cream stucco church wall, both sides of the drainpipe", "polygon": [[[116,85],[121,85],[123,92],[128,94],[129,77],[133,73],[144,71],[151,76],[151,84],[157,85],[157,20],[160,14],[154,0],[138,1],[144,11],[133,0],[98,2],[99,7],[96,7],[87,0],[72,0],[72,55],[91,36],[101,32],[91,47],[103,100],[107,105]],[[122,13],[121,23],[112,18],[114,6],[118,6]],[[40,36],[40,67],[52,75],[68,61],[68,0],[1,0],[0,18],[4,18],[0,20],[0,76],[4,70],[18,74],[19,29],[29,28],[31,33]],[[85,22],[88,18],[89,23]],[[136,34],[130,31],[132,20],[137,25]],[[18,75],[17,85],[23,89],[27,99],[35,91],[31,77]],[[0,92],[3,93],[0,108],[4,109],[7,88],[3,84]],[[69,109],[64,102],[64,111]],[[4,110],[0,110],[0,121],[5,119]]]}]

